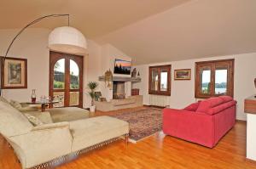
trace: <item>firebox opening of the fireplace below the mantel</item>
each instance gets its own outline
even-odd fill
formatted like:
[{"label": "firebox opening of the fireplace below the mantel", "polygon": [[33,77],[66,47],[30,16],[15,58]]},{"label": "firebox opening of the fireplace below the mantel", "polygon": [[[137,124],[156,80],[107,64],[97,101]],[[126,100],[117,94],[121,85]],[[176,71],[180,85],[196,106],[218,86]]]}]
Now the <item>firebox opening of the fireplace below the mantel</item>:
[{"label": "firebox opening of the fireplace below the mantel", "polygon": [[113,82],[113,99],[125,99],[125,82]]}]

